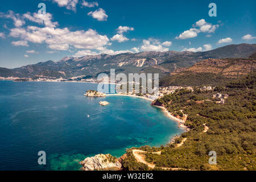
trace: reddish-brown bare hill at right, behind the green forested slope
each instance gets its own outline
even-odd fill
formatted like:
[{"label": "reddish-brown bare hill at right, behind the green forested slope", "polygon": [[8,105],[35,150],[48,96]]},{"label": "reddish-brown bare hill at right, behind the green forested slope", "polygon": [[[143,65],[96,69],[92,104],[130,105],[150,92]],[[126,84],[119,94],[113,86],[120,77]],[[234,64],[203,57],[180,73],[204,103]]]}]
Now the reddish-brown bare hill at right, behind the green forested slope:
[{"label": "reddish-brown bare hill at right, behind the green forested slope", "polygon": [[256,59],[207,59],[200,61],[192,67],[179,69],[163,77],[159,81],[160,86],[202,86],[220,85],[256,69]]}]

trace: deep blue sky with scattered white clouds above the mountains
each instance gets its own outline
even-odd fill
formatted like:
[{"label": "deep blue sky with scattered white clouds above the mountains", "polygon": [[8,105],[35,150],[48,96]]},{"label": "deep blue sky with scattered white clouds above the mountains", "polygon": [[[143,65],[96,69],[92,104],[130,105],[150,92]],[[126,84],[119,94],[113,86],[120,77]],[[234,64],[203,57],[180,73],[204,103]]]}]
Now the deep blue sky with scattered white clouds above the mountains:
[{"label": "deep blue sky with scattered white clouds above the mountains", "polygon": [[[46,4],[46,15],[38,4]],[[217,5],[210,17],[209,3]],[[256,42],[256,1],[2,0],[0,67],[65,56],[207,51]]]}]

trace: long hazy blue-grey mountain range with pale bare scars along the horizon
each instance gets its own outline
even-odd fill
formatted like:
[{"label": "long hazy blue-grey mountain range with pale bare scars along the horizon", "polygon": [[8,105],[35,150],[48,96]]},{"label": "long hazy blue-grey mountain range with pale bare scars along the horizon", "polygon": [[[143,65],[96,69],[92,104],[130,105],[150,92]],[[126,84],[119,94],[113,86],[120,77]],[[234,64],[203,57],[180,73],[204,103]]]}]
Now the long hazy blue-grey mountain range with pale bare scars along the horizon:
[{"label": "long hazy blue-grey mountain range with pale bare scars along the horizon", "polygon": [[171,72],[190,67],[208,58],[248,57],[256,52],[256,44],[229,45],[206,52],[140,52],[119,55],[95,55],[84,57],[64,57],[60,61],[40,62],[15,69],[0,68],[1,77],[96,77],[99,73],[109,73],[110,68],[123,73],[159,73],[160,77]]}]

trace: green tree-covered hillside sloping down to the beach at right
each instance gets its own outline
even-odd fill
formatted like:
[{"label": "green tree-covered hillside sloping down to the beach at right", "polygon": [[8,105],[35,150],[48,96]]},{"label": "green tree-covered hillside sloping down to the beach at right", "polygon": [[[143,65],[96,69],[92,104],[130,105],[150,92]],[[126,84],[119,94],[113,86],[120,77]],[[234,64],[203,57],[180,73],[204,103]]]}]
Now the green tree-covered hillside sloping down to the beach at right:
[{"label": "green tree-covered hillside sloping down to the beach at right", "polygon": [[[147,151],[162,151],[161,155],[145,153],[146,161],[155,169],[174,167],[192,170],[256,170],[256,71],[236,81],[217,86],[212,91],[180,90],[160,98],[170,113],[183,111],[185,125],[191,130],[165,147],[141,147]],[[228,94],[225,104],[216,104],[216,93]],[[200,102],[198,102],[200,101]],[[205,126],[209,129],[206,131]],[[204,130],[206,132],[204,132]],[[177,146],[183,139],[185,142]],[[209,152],[216,151],[217,165],[210,165]],[[127,169],[141,169],[133,156],[125,159]],[[137,167],[139,165],[139,167]]]}]

